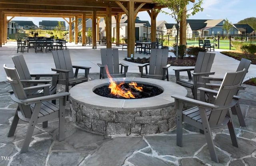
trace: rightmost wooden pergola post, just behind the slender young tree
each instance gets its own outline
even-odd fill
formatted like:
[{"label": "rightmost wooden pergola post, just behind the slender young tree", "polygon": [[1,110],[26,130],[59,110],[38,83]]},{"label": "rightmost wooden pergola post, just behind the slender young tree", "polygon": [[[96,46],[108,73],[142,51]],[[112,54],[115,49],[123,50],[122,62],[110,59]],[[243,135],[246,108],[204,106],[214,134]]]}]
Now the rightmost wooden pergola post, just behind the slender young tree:
[{"label": "rightmost wooden pergola post, just behind the slender young tree", "polygon": [[186,6],[184,13],[182,14],[182,19],[180,20],[180,45],[186,45],[186,30],[187,30],[187,20],[186,20]]}]

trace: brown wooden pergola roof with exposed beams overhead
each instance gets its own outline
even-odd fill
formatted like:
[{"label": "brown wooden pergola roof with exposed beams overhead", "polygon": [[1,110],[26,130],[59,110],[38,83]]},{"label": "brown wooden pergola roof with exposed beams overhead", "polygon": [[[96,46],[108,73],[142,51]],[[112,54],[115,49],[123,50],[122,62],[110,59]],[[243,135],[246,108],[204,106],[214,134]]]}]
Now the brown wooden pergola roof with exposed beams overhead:
[{"label": "brown wooden pergola roof with exposed beams overhead", "polygon": [[[134,1],[134,8],[144,4],[139,11],[151,10],[156,8],[153,0],[131,0]],[[123,8],[118,5],[121,3],[127,9],[130,0],[1,0],[0,10],[7,16],[38,16],[38,17],[68,17],[80,16],[86,13],[91,16],[92,11],[97,11],[97,16],[106,16],[106,8],[112,8],[112,15],[124,13]],[[161,8],[158,6],[158,8]]]}]

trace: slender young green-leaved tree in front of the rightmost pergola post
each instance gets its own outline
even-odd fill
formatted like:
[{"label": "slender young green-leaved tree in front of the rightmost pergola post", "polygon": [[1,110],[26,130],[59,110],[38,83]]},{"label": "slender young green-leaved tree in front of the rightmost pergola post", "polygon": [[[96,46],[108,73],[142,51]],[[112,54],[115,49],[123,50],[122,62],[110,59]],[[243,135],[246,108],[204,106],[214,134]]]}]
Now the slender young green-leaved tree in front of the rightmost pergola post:
[{"label": "slender young green-leaved tree in front of the rightmost pergola post", "polygon": [[184,13],[186,13],[186,18],[188,18],[191,15],[195,15],[197,12],[203,11],[203,8],[201,7],[203,0],[198,0],[198,2],[194,3],[190,9],[187,9],[190,0],[154,0],[154,2],[156,2],[158,6],[166,6],[166,8],[171,10],[171,12],[168,13],[159,9],[154,10],[172,16],[172,18],[174,18],[177,23],[176,59],[178,59],[178,36],[180,32],[180,21],[182,20],[182,16]]}]

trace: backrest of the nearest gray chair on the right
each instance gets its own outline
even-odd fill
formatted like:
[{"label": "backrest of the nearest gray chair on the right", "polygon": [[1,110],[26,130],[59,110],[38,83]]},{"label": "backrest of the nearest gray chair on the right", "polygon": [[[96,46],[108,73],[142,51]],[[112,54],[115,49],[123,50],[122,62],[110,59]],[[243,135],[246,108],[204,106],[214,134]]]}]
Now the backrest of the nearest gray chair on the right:
[{"label": "backrest of the nearest gray chair on the right", "polygon": [[[235,73],[226,73],[216,99],[214,101],[215,105],[220,107],[225,107],[229,105],[233,99],[233,96],[236,95],[237,86],[242,82],[242,76],[245,72],[245,69]],[[229,88],[224,88],[229,87]],[[211,112],[209,117],[209,124],[211,127],[218,126],[218,124],[223,123],[228,109],[214,110]]]}]

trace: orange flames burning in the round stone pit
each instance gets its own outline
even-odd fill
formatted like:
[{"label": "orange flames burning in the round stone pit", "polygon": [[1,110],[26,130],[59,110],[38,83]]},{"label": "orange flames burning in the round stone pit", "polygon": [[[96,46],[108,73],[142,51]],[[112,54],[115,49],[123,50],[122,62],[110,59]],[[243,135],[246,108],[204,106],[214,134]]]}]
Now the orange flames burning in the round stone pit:
[{"label": "orange flames burning in the round stone pit", "polygon": [[[116,84],[116,82],[113,81],[112,77],[110,76],[107,66],[105,66],[105,69],[106,69],[106,73],[107,73],[109,81],[110,81],[110,84],[108,86],[108,88],[110,89],[110,93],[112,95],[122,96],[126,99],[130,99],[130,98],[135,99],[135,96],[132,94],[132,91],[130,91],[129,89],[122,88],[122,85],[124,84],[124,82]],[[131,87],[133,87],[134,89],[136,89],[138,91],[142,91],[142,87],[138,87],[136,82],[131,82],[128,85],[130,85]]]}]

